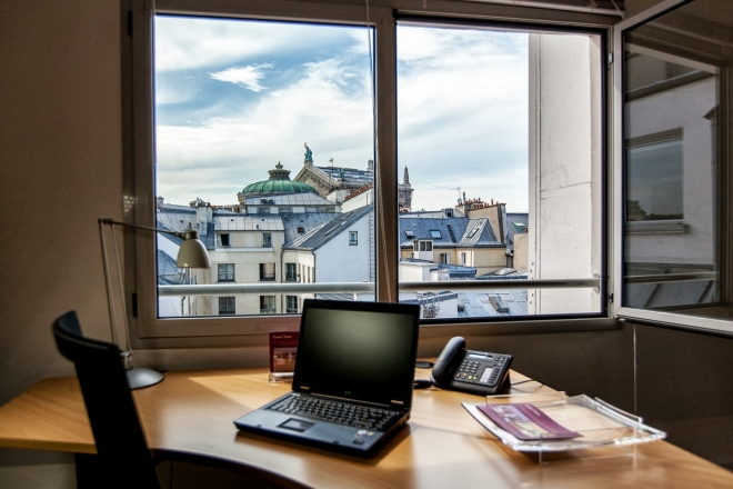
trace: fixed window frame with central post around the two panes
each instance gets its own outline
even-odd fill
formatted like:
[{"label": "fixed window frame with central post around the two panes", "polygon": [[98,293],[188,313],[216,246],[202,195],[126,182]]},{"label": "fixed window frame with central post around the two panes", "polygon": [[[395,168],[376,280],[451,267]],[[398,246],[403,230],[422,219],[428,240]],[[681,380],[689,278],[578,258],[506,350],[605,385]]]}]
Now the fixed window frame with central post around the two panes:
[{"label": "fixed window frame with central post around the two panes", "polygon": [[[398,300],[398,181],[396,164],[396,22],[399,2],[368,8],[366,4],[300,2],[294,0],[253,1],[221,0],[209,4],[194,0],[181,4],[175,0],[158,0],[151,9],[144,0],[123,0],[134,26],[129,36],[121,32],[123,67],[123,132],[125,148],[124,199],[125,220],[142,226],[154,226],[153,152],[154,102],[152,39],[155,13],[201,14],[207,17],[241,17],[262,20],[291,20],[335,24],[369,24],[373,28],[375,88],[375,216],[380,219],[375,236],[376,280],[375,299]],[[394,4],[392,4],[394,3]],[[488,3],[453,2],[420,12],[428,20],[440,22],[451,16],[473,18],[504,28],[552,29],[572,22],[594,29],[610,39],[615,19],[588,12],[548,12],[543,9],[496,7]],[[414,14],[414,12],[410,12]],[[611,83],[606,84],[610,92]],[[603,121],[604,126],[606,121]],[[603,134],[609,140],[610,131]],[[605,230],[604,230],[605,231]],[[273,328],[297,329],[300,316],[237,317],[237,318],[165,318],[157,317],[158,289],[155,280],[154,239],[150,233],[125,230],[125,289],[131,341],[133,348],[175,348],[204,346],[234,346],[261,343],[264,331]],[[611,253],[605,255],[606,259]],[[615,256],[615,255],[614,255]],[[313,276],[315,270],[313,270]],[[314,277],[313,277],[314,281]],[[608,308],[610,309],[610,308]],[[610,316],[603,318],[512,318],[511,321],[476,319],[473,322],[446,321],[430,325],[421,336],[450,338],[455,335],[492,335],[599,330],[614,328]]]}]

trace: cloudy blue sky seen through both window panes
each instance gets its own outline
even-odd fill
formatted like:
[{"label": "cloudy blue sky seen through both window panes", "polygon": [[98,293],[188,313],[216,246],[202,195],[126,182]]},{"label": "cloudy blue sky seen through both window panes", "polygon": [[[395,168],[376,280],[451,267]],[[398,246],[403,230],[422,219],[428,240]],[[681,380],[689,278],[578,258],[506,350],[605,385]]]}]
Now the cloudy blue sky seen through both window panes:
[{"label": "cloudy blue sky seen through both window panes", "polygon": [[[317,166],[373,158],[368,30],[155,19],[157,194],[235,203],[303,143]],[[413,209],[468,198],[528,210],[528,37],[398,28],[398,159]]]}]

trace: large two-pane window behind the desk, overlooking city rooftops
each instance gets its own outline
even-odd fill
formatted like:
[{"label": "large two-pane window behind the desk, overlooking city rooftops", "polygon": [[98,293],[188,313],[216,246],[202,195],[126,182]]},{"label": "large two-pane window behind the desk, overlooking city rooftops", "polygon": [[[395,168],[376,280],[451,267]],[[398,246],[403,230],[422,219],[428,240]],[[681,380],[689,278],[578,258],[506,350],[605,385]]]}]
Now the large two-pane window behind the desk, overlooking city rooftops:
[{"label": "large two-pane window behind the desk, overlooking city rooftops", "polygon": [[[518,288],[526,316],[603,317],[605,283],[594,277],[608,276],[608,19],[598,30],[563,22],[546,32],[542,23],[488,23],[482,19],[495,14],[489,4],[443,2],[444,11],[429,7],[419,19],[396,12],[396,29],[392,9],[376,7],[365,28],[363,6],[345,1],[339,8],[287,2],[287,11],[263,0],[227,0],[229,7],[212,11],[199,1],[167,6],[165,13],[154,2],[153,10],[130,2],[134,42],[123,49],[135,61],[124,103],[134,138],[124,139],[133,156],[125,171],[134,188],[170,202],[159,211],[151,196],[133,196],[134,221],[199,230],[215,263],[239,266],[238,283],[222,283],[222,293],[211,296],[159,285],[157,252],[175,250],[154,249],[139,233],[129,260],[137,267],[129,287],[139,300],[138,345],[202,337],[201,328],[212,336],[261,335],[261,325],[274,319],[207,319],[217,313],[214,298],[235,296],[238,315],[257,316],[273,309],[258,308],[259,298],[274,297],[284,312],[288,296],[321,293],[288,289],[299,283],[345,283],[349,298],[410,301],[422,290],[401,283],[440,279],[444,296],[460,297],[440,305],[430,321],[481,323],[493,308],[468,316],[470,308],[459,305],[470,298],[448,285],[493,280],[510,258],[518,282],[573,281],[566,289]],[[532,9],[526,12],[531,21]],[[293,51],[293,42],[302,49]],[[252,56],[252,46],[263,51]],[[440,123],[445,120],[451,123]],[[569,149],[574,152],[563,152]],[[529,233],[515,232],[512,213],[524,214]],[[361,246],[347,248],[350,230],[361,231]],[[263,232],[271,233],[270,247]],[[343,250],[360,253],[350,261],[359,267],[340,266],[334,258]],[[465,250],[472,267],[458,255]],[[435,267],[440,253],[456,253],[461,266]],[[302,263],[295,283],[275,282],[292,277],[284,263]],[[187,283],[210,290],[211,275],[190,270]],[[200,318],[161,313],[158,297],[185,299],[180,315]]]}]

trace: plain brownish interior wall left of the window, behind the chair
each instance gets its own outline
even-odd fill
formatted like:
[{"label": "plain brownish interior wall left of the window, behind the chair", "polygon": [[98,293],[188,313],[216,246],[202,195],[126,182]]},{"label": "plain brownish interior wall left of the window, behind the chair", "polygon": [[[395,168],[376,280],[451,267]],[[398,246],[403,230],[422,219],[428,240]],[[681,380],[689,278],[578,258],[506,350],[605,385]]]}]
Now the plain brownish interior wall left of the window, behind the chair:
[{"label": "plain brownish interior wall left of the window, behind the chair", "polygon": [[[110,338],[97,219],[122,219],[119,32],[117,1],[0,2],[0,403],[73,372],[51,335],[61,313]],[[40,463],[23,487],[73,480]],[[23,478],[0,467],[9,480]]]}]

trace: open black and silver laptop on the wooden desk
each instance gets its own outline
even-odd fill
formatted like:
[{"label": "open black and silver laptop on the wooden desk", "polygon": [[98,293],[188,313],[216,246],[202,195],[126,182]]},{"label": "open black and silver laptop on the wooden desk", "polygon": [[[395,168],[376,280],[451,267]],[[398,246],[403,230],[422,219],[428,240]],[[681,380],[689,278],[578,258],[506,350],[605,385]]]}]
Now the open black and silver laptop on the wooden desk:
[{"label": "open black and silver laptop on the wooden desk", "polygon": [[304,300],[292,391],[234,425],[372,456],[410,418],[419,323],[416,305]]}]

